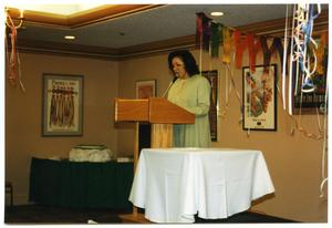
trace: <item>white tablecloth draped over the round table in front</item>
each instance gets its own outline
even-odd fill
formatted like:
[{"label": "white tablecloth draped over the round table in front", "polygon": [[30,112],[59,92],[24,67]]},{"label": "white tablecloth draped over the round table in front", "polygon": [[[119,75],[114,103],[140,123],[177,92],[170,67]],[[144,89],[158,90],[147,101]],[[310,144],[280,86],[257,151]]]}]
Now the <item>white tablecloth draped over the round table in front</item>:
[{"label": "white tablecloth draped over the round table in front", "polygon": [[129,200],[154,222],[227,218],[274,191],[259,151],[142,149]]}]

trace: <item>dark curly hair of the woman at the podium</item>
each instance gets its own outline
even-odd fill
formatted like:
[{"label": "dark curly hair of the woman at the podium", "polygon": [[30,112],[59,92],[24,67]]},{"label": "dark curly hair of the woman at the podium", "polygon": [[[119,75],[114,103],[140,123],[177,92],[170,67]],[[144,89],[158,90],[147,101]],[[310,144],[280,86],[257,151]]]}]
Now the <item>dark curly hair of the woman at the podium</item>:
[{"label": "dark curly hair of the woman at the podium", "polygon": [[173,64],[172,60],[174,58],[179,58],[185,63],[185,69],[188,72],[189,76],[193,76],[195,74],[199,73],[198,66],[196,64],[196,60],[193,56],[193,54],[187,50],[178,50],[170,52],[168,54],[168,69],[174,73],[173,71]]}]

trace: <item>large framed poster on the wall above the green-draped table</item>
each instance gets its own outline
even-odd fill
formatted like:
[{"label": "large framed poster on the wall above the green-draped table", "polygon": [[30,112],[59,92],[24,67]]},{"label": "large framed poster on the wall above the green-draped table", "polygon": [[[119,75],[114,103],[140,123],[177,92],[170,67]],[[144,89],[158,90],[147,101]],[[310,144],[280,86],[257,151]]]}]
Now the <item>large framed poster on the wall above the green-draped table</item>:
[{"label": "large framed poster on the wall above the green-draped table", "polygon": [[83,75],[43,74],[42,135],[83,134]]}]

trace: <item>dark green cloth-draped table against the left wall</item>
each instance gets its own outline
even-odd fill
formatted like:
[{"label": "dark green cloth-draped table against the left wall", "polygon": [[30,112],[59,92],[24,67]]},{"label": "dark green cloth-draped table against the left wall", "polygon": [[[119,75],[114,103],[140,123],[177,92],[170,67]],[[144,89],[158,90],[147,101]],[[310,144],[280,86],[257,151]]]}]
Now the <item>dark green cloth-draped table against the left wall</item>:
[{"label": "dark green cloth-draped table against the left wall", "polygon": [[30,201],[71,208],[132,209],[133,163],[89,163],[32,157]]}]

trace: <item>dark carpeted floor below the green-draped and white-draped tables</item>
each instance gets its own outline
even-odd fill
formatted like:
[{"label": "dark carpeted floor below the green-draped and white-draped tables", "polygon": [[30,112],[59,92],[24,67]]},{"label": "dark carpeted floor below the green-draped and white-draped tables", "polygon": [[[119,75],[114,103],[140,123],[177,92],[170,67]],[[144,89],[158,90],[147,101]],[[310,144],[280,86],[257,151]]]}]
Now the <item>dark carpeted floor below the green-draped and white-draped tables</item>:
[{"label": "dark carpeted floor below the green-draped and white-draped tables", "polygon": [[[131,211],[118,211],[112,209],[70,209],[55,208],[40,205],[25,205],[7,207],[4,210],[4,222],[9,225],[66,225],[87,224],[89,220],[97,224],[121,224],[118,215]],[[252,224],[252,222],[294,222],[292,220],[277,218],[256,213],[240,213],[227,219],[206,220],[195,217],[197,224]]]}]

